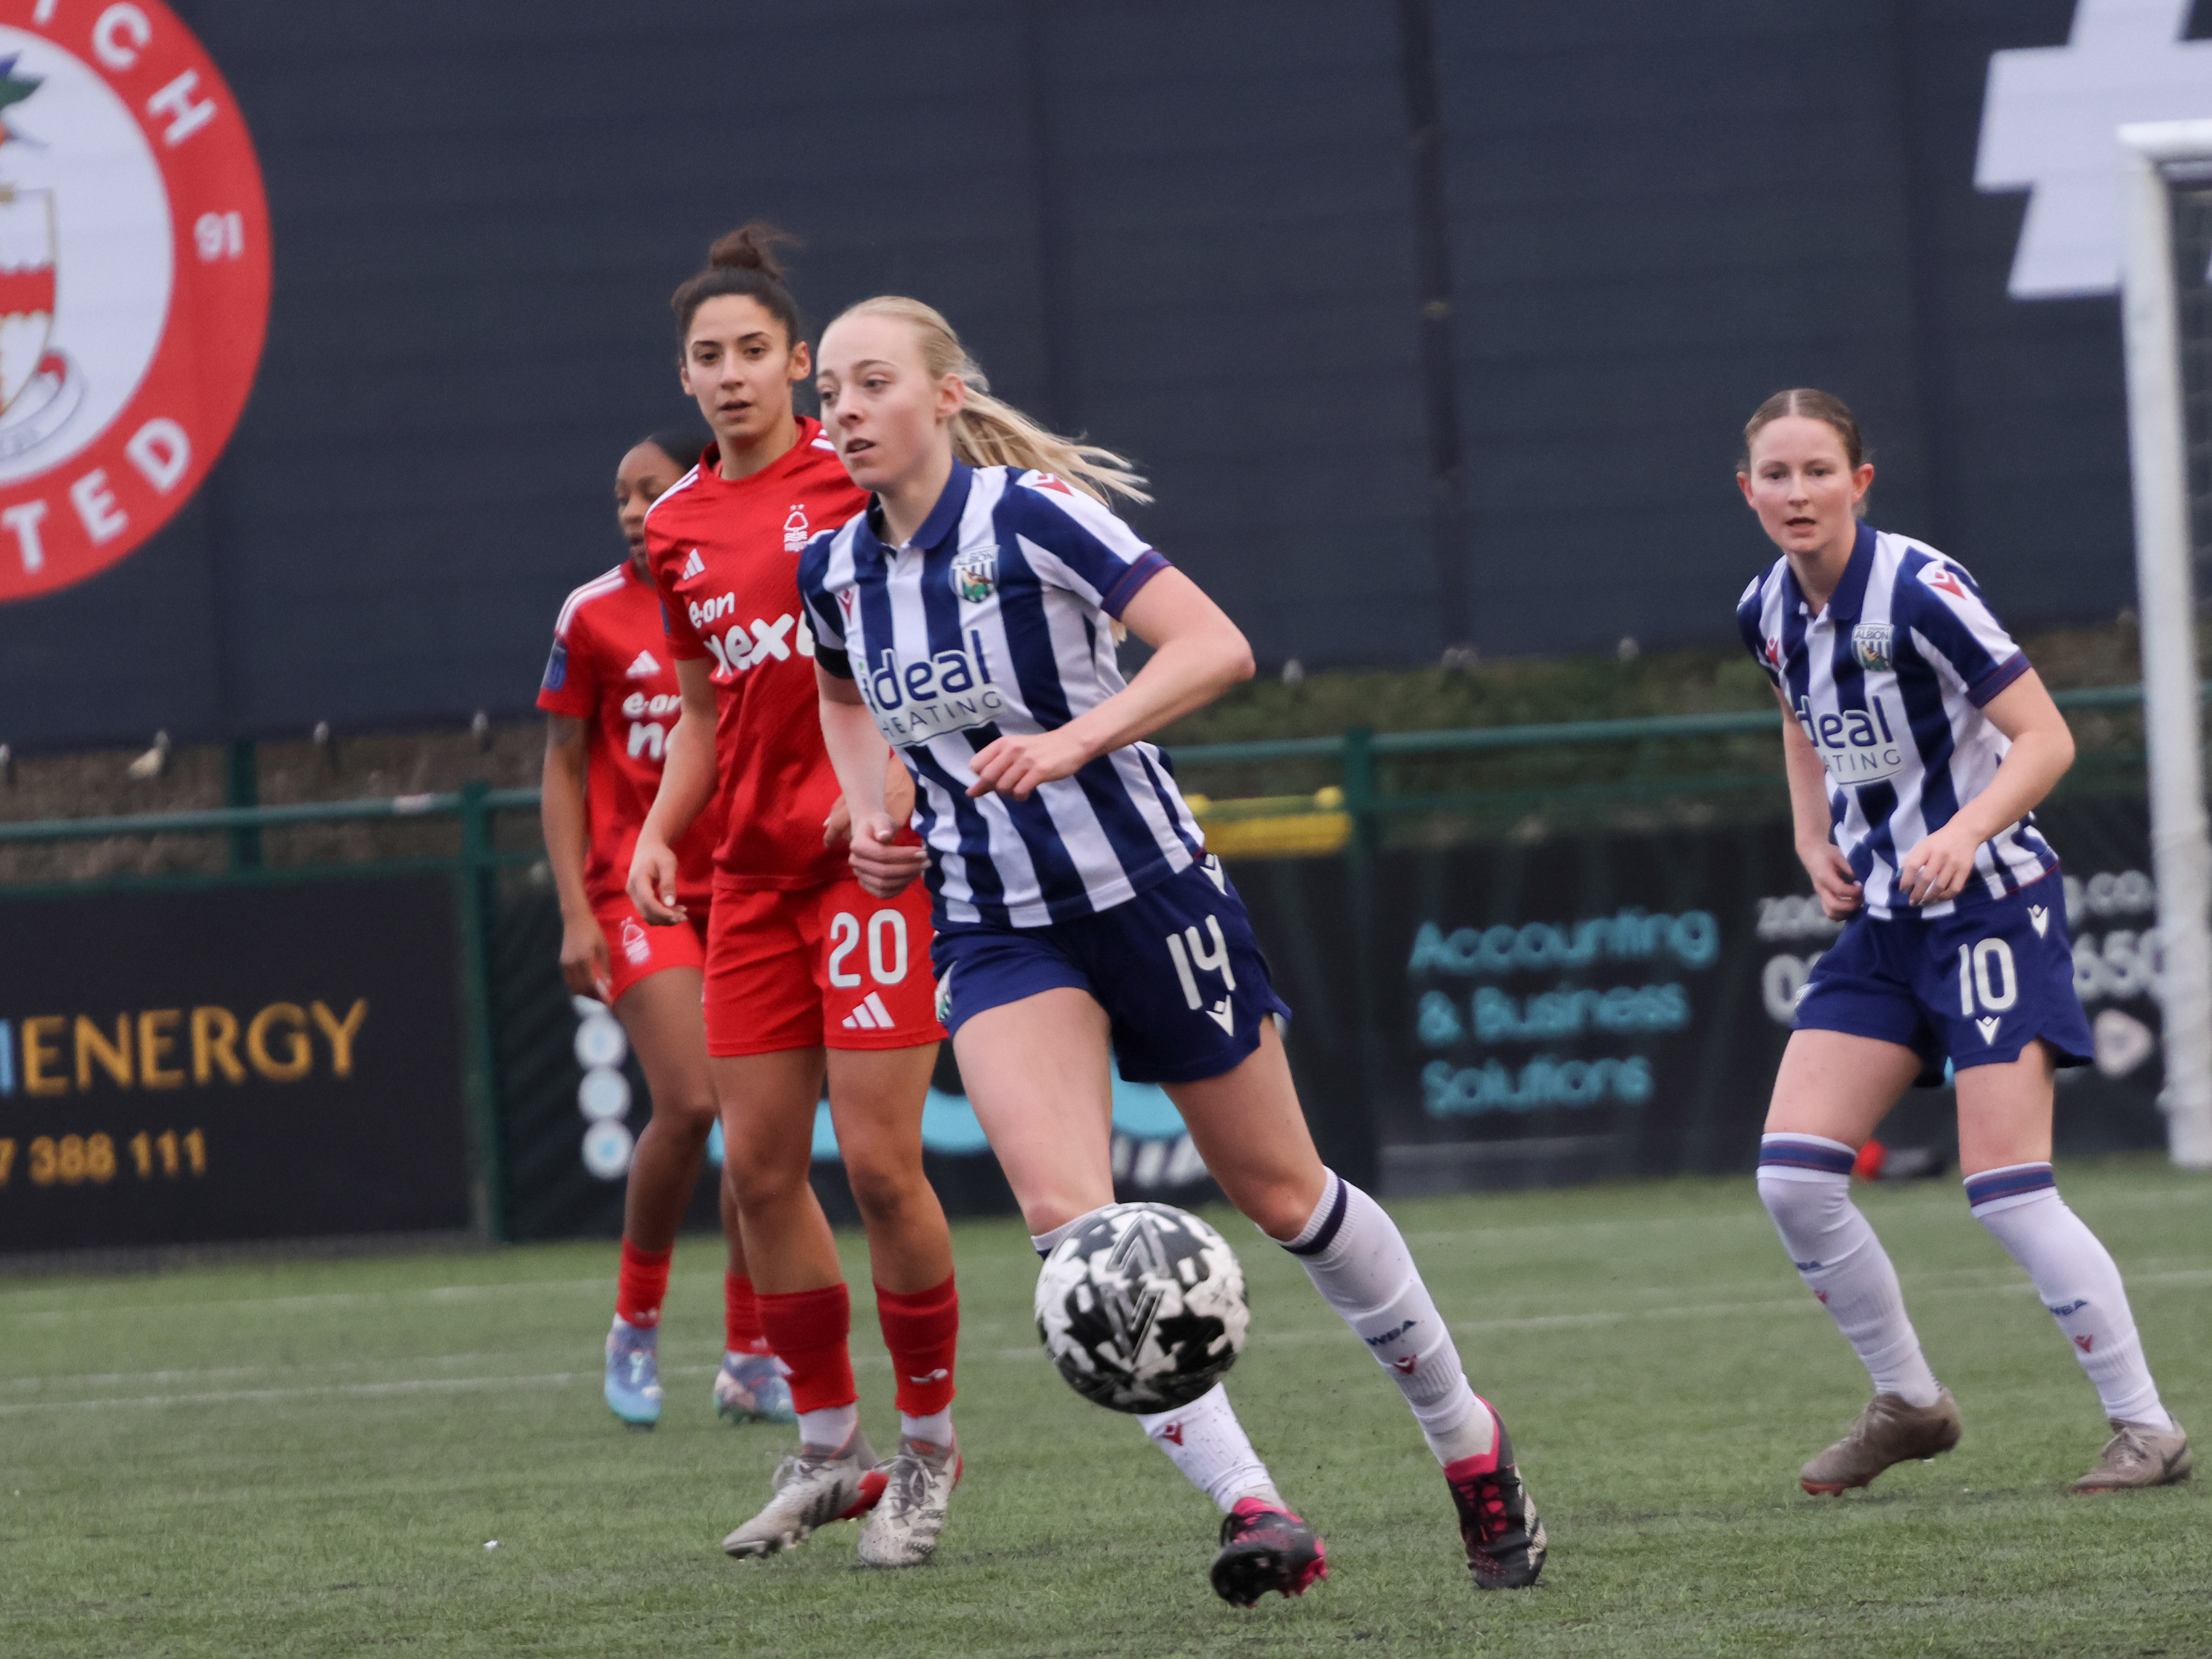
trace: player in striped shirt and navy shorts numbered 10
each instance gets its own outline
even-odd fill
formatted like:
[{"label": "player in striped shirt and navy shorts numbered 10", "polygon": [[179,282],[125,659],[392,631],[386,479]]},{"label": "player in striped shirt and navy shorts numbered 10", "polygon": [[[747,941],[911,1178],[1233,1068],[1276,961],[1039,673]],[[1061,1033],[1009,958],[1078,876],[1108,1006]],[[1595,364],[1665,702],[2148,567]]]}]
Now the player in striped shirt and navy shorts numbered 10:
[{"label": "player in striped shirt and navy shorts numbered 10", "polygon": [[1845,922],[1798,1000],[1759,1197],[1874,1380],[1858,1422],[1798,1482],[1843,1493],[1958,1444],[1958,1400],[1851,1203],[1860,1146],[1947,1060],[1973,1219],[2035,1283],[2112,1429],[2075,1491],[2185,1480],[2190,1440],[2159,1400],[2119,1267],[2051,1172],[2053,1073],[2095,1048],[2059,860],[2035,827],[2073,765],[2066,717],[1964,566],[1858,520],[1874,465],[1840,398],[1767,398],[1736,482],[1781,551],[1736,624],[1783,706],[1798,858],[1823,914]]}]

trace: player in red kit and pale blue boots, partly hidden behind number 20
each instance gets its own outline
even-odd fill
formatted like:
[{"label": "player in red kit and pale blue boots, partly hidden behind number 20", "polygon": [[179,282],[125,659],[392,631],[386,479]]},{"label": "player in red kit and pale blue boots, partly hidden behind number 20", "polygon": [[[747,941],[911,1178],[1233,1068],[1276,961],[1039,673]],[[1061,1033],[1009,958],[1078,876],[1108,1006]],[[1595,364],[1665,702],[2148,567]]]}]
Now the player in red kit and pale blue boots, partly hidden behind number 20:
[{"label": "player in red kit and pale blue boots, partly hidden behind number 20", "polygon": [[[646,509],[684,476],[697,449],[686,434],[655,434],[622,458],[615,518],[630,557],[568,595],[538,692],[546,712],[542,812],[562,911],[562,980],[615,1011],[653,1091],[653,1119],[637,1137],[622,1203],[622,1270],[606,1338],[606,1405],[641,1429],[661,1416],[657,1338],[668,1259],[714,1128],[699,984],[721,814],[701,816],[677,847],[677,887],[695,907],[692,927],[644,927],[622,889],[681,706],[659,595],[646,573]],[[790,1422],[790,1387],[761,1336],[728,1181],[721,1225],[730,1267],[714,1409],[737,1422]]]}]

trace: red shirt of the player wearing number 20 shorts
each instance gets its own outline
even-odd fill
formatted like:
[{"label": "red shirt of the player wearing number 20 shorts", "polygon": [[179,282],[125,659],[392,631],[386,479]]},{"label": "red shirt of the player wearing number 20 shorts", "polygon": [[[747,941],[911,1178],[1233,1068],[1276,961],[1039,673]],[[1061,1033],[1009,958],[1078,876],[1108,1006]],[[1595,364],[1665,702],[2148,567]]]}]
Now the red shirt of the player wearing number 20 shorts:
[{"label": "red shirt of the player wearing number 20 shorts", "polygon": [[818,420],[752,478],[730,482],[708,447],[646,513],[646,557],[668,648],[714,670],[714,772],[726,827],[714,887],[821,887],[847,872],[823,847],[836,772],[823,748],[814,635],[799,604],[799,553],[867,507]]}]

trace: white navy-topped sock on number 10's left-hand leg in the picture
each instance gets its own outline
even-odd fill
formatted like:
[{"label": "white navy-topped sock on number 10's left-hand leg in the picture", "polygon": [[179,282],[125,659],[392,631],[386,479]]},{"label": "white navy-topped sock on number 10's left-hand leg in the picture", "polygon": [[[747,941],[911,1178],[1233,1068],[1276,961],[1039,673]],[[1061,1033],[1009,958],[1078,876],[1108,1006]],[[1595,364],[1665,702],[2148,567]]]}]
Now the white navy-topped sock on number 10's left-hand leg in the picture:
[{"label": "white navy-topped sock on number 10's left-hand leg in the picture", "polygon": [[1889,1252],[1867,1217],[1851,1203],[1854,1152],[1823,1135],[1763,1135],[1759,1141],[1759,1201],[1836,1329],[1874,1378],[1876,1394],[1907,1405],[1936,1405],[1942,1385],[1920,1354],[1920,1336],[1905,1316],[1905,1292]]}]

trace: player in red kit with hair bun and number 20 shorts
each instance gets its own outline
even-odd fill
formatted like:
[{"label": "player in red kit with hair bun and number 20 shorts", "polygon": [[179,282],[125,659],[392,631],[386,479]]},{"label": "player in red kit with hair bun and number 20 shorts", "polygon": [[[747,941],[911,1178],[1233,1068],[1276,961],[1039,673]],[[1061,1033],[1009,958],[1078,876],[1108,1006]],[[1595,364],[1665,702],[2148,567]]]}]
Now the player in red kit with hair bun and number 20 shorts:
[{"label": "player in red kit with hair bun and number 20 shorts", "polygon": [[[867,1513],[860,1559],[918,1566],[960,1478],[960,1301],[945,1210],[922,1175],[922,1099],[945,1029],[927,894],[867,896],[841,845],[799,553],[867,495],[821,425],[792,409],[812,361],[772,252],[781,239],[768,226],[723,237],[672,301],[684,389],[714,445],[646,515],[684,717],[637,838],[630,898],[648,922],[690,916],[672,845],[719,799],[728,827],[714,854],[706,1037],[761,1327],[790,1376],[801,1440],[768,1506],[723,1548],[774,1555]],[[911,807],[902,768],[896,783]],[[860,1431],[845,1274],[807,1181],[825,1077],[898,1387],[898,1455],[880,1469]]]}]

